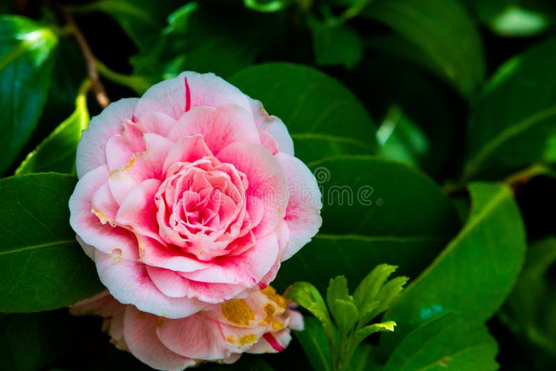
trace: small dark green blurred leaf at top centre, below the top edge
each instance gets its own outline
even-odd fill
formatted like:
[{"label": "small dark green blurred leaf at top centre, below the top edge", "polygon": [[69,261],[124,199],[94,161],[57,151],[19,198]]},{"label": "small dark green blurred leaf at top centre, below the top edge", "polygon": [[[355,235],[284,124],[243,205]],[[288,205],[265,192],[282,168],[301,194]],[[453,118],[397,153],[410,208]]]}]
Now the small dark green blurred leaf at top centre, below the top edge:
[{"label": "small dark green blurred leaf at top centre, below the top edge", "polygon": [[317,65],[352,68],[363,58],[363,41],[347,24],[332,25],[309,18]]}]

